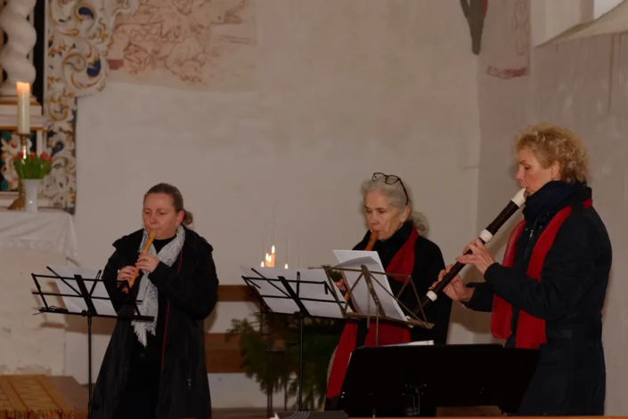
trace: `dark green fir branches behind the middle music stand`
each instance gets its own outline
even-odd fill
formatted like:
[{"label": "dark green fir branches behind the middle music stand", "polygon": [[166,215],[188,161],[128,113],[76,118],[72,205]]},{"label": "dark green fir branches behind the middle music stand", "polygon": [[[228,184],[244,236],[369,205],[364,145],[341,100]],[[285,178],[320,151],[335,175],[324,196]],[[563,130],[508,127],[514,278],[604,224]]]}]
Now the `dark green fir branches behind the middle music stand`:
[{"label": "dark green fir branches behind the middle music stand", "polygon": [[[338,281],[338,271],[328,270],[330,278]],[[303,327],[303,405],[313,410],[322,406],[327,391],[327,368],[336,349],[342,320],[306,318]],[[260,329],[271,331],[261,334]],[[255,378],[262,391],[281,391],[287,387],[288,396],[298,395],[298,317],[257,315],[254,320],[233,319],[228,338],[240,334],[240,352],[247,376]]]}]

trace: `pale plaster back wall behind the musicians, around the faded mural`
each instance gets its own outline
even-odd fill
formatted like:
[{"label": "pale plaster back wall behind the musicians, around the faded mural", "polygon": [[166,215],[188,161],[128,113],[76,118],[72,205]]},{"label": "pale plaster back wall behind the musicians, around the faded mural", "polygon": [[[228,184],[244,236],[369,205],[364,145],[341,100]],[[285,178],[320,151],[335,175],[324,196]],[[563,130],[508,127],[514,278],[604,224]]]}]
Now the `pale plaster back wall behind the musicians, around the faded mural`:
[{"label": "pale plaster back wall behind the musicians, around the faded mural", "polygon": [[[333,263],[363,237],[359,185],[373,172],[412,188],[446,261],[477,235],[477,57],[457,0],[259,1],[254,92],[111,83],[79,100],[77,139],[86,266],[102,267],[140,227],[143,193],[159,181],[182,190],[222,284],[262,260],[273,214],[281,264],[286,242],[290,266]],[[212,332],[249,312],[216,310]],[[454,319],[451,342],[472,342],[468,324]],[[107,341],[96,340],[94,371]],[[68,335],[66,367],[81,382],[84,364],[69,363],[83,342]],[[220,380],[214,406],[241,406],[241,389],[265,405],[244,377]]]}]

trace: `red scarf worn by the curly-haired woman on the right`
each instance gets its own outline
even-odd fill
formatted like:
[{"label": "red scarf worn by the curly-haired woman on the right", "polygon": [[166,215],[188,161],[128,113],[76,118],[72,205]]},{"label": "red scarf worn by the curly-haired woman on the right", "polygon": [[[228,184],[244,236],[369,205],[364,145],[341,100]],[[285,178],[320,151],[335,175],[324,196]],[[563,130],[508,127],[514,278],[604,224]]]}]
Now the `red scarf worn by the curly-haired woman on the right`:
[{"label": "red scarf worn by the curly-haired woman on the right", "polygon": [[[592,199],[587,199],[583,202],[584,208],[589,208],[593,205]],[[558,233],[562,223],[567,220],[567,217],[571,214],[571,206],[567,206],[556,214],[551,222],[543,230],[541,237],[537,240],[530,257],[530,262],[527,265],[527,276],[533,278],[536,281],[541,281],[541,272],[543,269],[543,263],[545,262],[545,256],[550,251],[556,233]],[[515,259],[515,246],[521,231],[523,231],[526,221],[519,222],[517,227],[510,233],[508,239],[508,246],[506,246],[506,253],[503,256],[503,266],[509,268]],[[493,313],[491,315],[491,331],[493,336],[498,339],[508,339],[512,330],[510,328],[510,318],[512,317],[512,305],[510,302],[506,302],[502,297],[493,295]],[[524,349],[538,349],[539,346],[547,342],[545,337],[545,320],[542,318],[535,318],[534,316],[526,313],[524,310],[519,310],[518,322],[517,322],[517,335],[515,336],[515,346],[517,348]]]}]

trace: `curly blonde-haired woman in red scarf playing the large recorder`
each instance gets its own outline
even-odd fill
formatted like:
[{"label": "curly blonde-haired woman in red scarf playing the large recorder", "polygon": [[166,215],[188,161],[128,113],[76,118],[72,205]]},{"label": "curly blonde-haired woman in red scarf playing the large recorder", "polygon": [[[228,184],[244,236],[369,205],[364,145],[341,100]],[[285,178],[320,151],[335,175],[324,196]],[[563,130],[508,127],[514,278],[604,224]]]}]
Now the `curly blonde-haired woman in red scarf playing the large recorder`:
[{"label": "curly blonde-haired woman in red scarf playing the large recorder", "polygon": [[604,415],[602,308],[612,249],[586,184],[586,151],[575,133],[553,125],[526,129],[515,151],[525,220],[502,264],[478,239],[457,259],[475,265],[484,283],[456,277],[444,292],[492,312],[493,336],[507,347],[540,350],[517,415]]}]

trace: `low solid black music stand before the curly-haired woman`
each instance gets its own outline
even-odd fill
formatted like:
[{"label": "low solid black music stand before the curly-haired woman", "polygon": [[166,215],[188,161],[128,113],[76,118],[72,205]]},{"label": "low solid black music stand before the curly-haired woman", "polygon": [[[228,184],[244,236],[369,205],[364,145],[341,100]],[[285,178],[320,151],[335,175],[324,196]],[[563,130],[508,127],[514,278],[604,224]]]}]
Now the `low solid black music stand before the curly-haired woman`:
[{"label": "low solid black music stand before the curly-haired woman", "polygon": [[499,344],[356,349],[338,398],[349,416],[420,415],[421,407],[497,406],[517,411],[538,351]]}]

